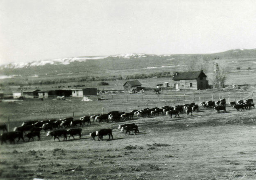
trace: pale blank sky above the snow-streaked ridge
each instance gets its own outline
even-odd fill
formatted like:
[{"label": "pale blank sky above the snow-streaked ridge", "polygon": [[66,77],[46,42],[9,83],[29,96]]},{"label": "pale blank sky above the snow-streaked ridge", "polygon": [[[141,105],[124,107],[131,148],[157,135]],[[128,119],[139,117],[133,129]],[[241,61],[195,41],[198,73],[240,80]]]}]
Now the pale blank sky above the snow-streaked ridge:
[{"label": "pale blank sky above the snow-streaked ridge", "polygon": [[256,48],[254,0],[1,0],[0,64]]}]

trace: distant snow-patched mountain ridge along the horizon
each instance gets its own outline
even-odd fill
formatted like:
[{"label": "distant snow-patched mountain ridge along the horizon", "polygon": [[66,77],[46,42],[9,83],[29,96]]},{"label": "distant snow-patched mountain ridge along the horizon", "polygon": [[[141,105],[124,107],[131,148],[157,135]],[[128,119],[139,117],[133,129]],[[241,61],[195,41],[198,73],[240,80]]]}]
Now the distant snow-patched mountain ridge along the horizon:
[{"label": "distant snow-patched mountain ridge along the horizon", "polygon": [[[40,60],[33,62],[9,63],[0,66],[0,74],[3,75],[31,75],[46,73],[84,72],[93,69],[111,70],[128,69],[129,64],[137,64],[136,67],[155,67],[161,65],[177,65],[177,60],[189,60],[192,56],[201,56],[205,60],[252,58],[256,57],[256,49],[232,49],[220,53],[211,54],[144,54],[127,53],[113,56],[85,56]],[[127,62],[129,60],[129,62]],[[173,61],[172,61],[173,60]]]}]

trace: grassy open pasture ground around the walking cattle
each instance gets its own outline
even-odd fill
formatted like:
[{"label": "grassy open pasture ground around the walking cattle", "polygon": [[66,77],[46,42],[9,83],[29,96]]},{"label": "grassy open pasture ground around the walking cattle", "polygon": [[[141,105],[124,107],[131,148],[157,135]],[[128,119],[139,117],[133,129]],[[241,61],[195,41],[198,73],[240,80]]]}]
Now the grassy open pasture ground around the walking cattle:
[{"label": "grassy open pasture ground around the walking cattle", "polygon": [[[220,96],[226,97],[229,93],[221,92]],[[242,98],[248,93],[242,94]],[[237,100],[240,97],[239,92],[231,94]],[[190,95],[186,99],[198,101],[199,96],[208,100],[212,95]],[[59,118],[60,114],[67,117],[72,111],[78,118],[89,112],[101,113],[102,107],[104,112],[124,111],[125,106],[129,111],[144,108],[146,102],[149,107],[154,107],[164,105],[165,100],[168,105],[183,104],[184,99],[181,96],[177,96],[177,100],[169,96],[159,100],[157,96],[146,97],[142,100],[141,96],[129,96],[128,102],[125,96],[114,96],[112,100],[111,95],[109,100],[92,102],[81,102],[79,98],[5,102],[0,107],[5,112],[1,119],[11,116],[12,129],[26,119]],[[238,112],[228,106],[227,113],[201,108],[192,116],[180,114],[180,118],[156,116],[135,117],[129,122],[93,122],[82,127],[81,140],[75,137],[75,140],[62,141],[61,137],[61,142],[54,142],[42,133],[40,141],[36,137],[34,142],[27,142],[25,138],[25,142],[0,146],[0,177],[3,180],[253,180],[256,178],[255,112],[256,109]],[[125,123],[136,123],[140,134],[121,133],[118,125]],[[103,141],[97,141],[97,137],[94,141],[89,137],[89,132],[103,128],[113,129],[114,140],[108,141],[104,136]],[[64,171],[72,168],[75,169]]]}]

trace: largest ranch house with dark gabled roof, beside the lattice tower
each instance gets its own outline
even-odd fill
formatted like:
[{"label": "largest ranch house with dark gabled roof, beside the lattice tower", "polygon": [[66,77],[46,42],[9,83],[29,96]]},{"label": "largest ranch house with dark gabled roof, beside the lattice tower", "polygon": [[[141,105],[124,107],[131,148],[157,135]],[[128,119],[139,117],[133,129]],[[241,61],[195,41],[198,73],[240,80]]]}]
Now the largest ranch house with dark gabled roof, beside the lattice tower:
[{"label": "largest ranch house with dark gabled roof, beside the lattice tower", "polygon": [[207,76],[203,71],[176,72],[173,77],[175,89],[206,89],[208,88]]}]

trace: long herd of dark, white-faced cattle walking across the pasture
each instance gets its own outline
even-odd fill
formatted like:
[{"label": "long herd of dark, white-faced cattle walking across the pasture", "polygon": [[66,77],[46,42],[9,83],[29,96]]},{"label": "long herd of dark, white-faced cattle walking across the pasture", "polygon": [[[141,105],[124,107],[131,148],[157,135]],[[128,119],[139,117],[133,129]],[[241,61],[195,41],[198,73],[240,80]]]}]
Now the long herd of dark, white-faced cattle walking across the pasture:
[{"label": "long herd of dark, white-faced cattle walking across the pasture", "polygon": [[[230,102],[229,103],[231,107],[235,108],[239,111],[239,109],[244,110],[245,109],[251,109],[252,107],[255,108],[253,100],[247,99],[245,101],[239,100],[238,102]],[[200,104],[204,108],[214,108],[218,113],[220,110],[223,110],[223,112],[226,111],[226,100],[221,99],[217,102],[214,101],[207,101],[202,102]],[[87,125],[91,124],[91,120],[100,122],[116,122],[121,120],[132,120],[134,119],[134,116],[140,116],[143,118],[150,117],[150,116],[160,116],[160,115],[169,115],[170,118],[174,116],[179,117],[179,113],[186,112],[187,115],[189,113],[192,115],[193,112],[199,111],[198,104],[195,104],[195,102],[190,104],[184,104],[184,105],[177,105],[175,107],[170,106],[164,106],[164,107],[154,107],[154,108],[146,108],[141,110],[133,110],[131,112],[119,112],[119,111],[111,111],[109,113],[105,114],[97,114],[94,116],[84,116],[79,118],[79,120],[74,120],[72,117],[70,118],[64,118],[60,120],[43,120],[43,121],[25,121],[23,124],[21,124],[20,127],[15,127],[14,131],[11,132],[5,132],[7,131],[6,124],[0,125],[0,130],[3,131],[2,135],[0,136],[1,144],[3,142],[6,142],[9,140],[9,142],[15,143],[15,139],[18,138],[18,141],[20,139],[24,140],[24,134],[25,137],[28,138],[28,141],[30,139],[34,140],[34,137],[38,137],[38,140],[40,140],[41,137],[41,131],[48,131],[46,136],[52,136],[55,139],[57,138],[59,140],[60,136],[63,136],[63,140],[67,140],[67,136],[69,135],[68,140],[72,136],[74,138],[75,135],[78,135],[79,138],[82,138],[82,129],[76,128],[77,125],[80,127],[84,126],[86,123]],[[65,129],[65,128],[71,128],[71,129]],[[135,134],[139,133],[138,126],[134,123],[132,124],[123,124],[119,125],[118,129],[120,129],[122,132],[125,131],[125,134],[132,131]],[[103,136],[109,136],[113,139],[112,129],[100,129],[99,131],[94,131],[90,133],[90,136],[95,140],[95,137],[98,136],[98,140],[102,140]],[[75,139],[75,138],[74,138]],[[17,141],[17,142],[18,142]],[[59,140],[60,141],[60,140]]]}]

